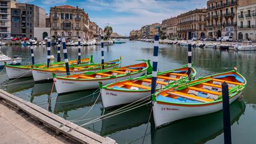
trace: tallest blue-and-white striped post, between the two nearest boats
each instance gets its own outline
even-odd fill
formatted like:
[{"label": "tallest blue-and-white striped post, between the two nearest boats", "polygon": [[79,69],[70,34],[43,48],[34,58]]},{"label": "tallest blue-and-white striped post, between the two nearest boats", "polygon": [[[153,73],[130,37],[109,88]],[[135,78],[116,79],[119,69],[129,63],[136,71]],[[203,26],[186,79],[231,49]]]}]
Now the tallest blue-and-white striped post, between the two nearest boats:
[{"label": "tallest blue-and-white striped post, between the two nearest boats", "polygon": [[152,70],[151,94],[156,92],[158,47],[159,47],[159,35],[155,35],[154,51],[153,51],[153,70]]}]

